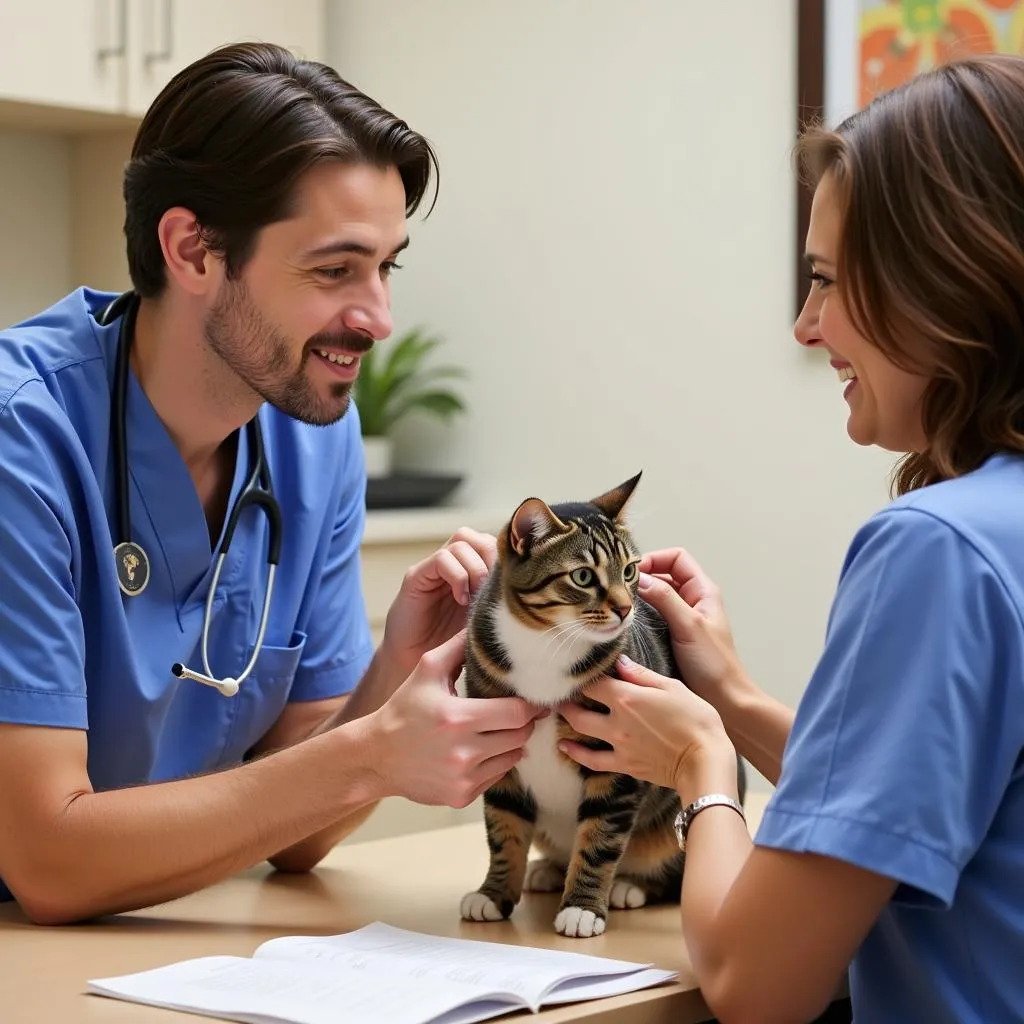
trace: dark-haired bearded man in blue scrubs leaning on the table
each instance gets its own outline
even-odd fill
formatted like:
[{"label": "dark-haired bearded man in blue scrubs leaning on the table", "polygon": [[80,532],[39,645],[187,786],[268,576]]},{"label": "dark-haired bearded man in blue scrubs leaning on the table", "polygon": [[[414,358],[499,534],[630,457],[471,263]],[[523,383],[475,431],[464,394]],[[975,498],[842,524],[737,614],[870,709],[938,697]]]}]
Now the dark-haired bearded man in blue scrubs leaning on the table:
[{"label": "dark-haired bearded man in blue scrubs leaning on the table", "polygon": [[[131,336],[88,289],[0,333],[0,896],[32,920],[151,905],[261,859],[309,869],[382,797],[463,806],[522,756],[522,701],[451,686],[493,538],[460,531],[414,566],[376,651],[360,595],[350,391],[391,331],[389,275],[433,166],[330,69],[225,48],[136,136]],[[123,345],[128,518],[148,560],[132,595],[114,556]],[[282,551],[262,648],[225,696],[171,667],[204,671],[254,417]],[[217,678],[254,649],[267,535],[241,515],[210,613]]]}]

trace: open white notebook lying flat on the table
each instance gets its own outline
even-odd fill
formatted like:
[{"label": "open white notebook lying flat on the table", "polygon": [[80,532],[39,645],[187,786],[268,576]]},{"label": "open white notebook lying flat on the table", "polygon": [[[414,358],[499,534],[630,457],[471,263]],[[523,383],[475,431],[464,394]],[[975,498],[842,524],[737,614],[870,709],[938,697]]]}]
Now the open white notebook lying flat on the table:
[{"label": "open white notebook lying flat on the table", "polygon": [[252,958],[204,956],[100,978],[88,990],[252,1024],[471,1024],[675,978],[648,964],[375,923],[345,935],[270,939]]}]

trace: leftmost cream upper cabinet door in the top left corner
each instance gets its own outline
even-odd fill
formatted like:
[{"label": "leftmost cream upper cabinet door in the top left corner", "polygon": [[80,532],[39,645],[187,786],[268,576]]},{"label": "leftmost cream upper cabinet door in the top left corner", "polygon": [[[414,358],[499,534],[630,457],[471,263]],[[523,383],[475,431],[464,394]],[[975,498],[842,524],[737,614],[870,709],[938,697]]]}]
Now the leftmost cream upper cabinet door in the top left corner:
[{"label": "leftmost cream upper cabinet door in the top left corner", "polygon": [[0,3],[0,99],[122,110],[128,0]]}]

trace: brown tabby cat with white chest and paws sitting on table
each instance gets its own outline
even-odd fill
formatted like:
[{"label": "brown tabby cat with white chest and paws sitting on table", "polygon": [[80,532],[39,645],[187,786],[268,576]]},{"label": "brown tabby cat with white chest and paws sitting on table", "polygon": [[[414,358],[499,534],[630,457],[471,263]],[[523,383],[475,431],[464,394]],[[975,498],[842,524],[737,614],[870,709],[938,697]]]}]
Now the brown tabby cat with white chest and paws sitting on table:
[{"label": "brown tabby cat with white chest and paws sitting on table", "polygon": [[[580,690],[613,674],[620,653],[680,678],[664,620],[637,595],[640,552],[623,511],[639,479],[590,502],[529,498],[516,509],[473,602],[461,691],[549,707],[573,698],[606,712]],[[526,757],[483,795],[490,868],[463,897],[467,921],[510,916],[523,890],[560,892],[556,931],[589,937],[604,931],[609,904],[678,899],[677,795],[591,771],[558,750],[560,738],[607,749],[560,715],[537,723]],[[737,772],[742,801],[742,762]],[[527,860],[531,844],[543,858]]]}]

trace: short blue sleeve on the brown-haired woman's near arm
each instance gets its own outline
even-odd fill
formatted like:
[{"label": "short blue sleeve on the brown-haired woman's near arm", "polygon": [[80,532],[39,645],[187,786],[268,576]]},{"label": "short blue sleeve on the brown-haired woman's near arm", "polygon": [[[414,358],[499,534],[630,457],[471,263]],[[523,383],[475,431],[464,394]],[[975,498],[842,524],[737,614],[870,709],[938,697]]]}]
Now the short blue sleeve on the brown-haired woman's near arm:
[{"label": "short blue sleeve on the brown-haired woman's near arm", "polygon": [[1022,646],[1004,581],[959,532],[880,513],[847,556],[758,844],[948,906],[1021,753]]}]

